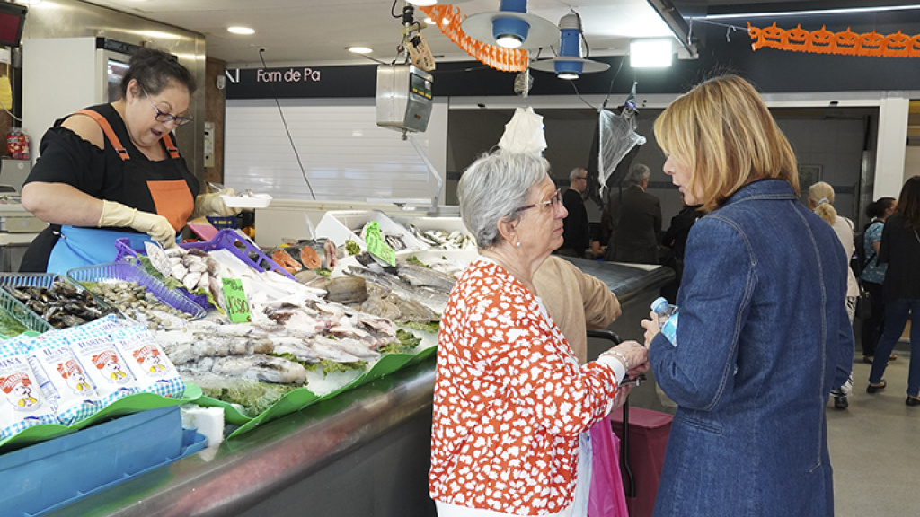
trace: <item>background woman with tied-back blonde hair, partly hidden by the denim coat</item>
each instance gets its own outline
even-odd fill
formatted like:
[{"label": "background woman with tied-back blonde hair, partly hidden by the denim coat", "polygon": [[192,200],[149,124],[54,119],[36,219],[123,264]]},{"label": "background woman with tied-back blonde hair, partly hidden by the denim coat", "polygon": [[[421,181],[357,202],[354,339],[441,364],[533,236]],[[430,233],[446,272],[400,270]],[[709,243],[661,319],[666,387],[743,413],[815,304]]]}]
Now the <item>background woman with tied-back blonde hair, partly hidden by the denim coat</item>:
[{"label": "background woman with tied-back blonde hair, partly hidden by the denim coat", "polygon": [[[853,222],[837,213],[834,209],[834,187],[829,183],[819,181],[811,185],[808,189],[808,207],[834,228],[834,233],[840,239],[841,246],[844,247],[844,257],[849,261],[856,251],[856,245],[853,242]],[[859,297],[859,284],[857,276],[853,274],[851,268],[846,268],[846,315],[850,318],[850,325],[853,325],[853,317],[857,312],[857,298]],[[849,407],[847,397],[853,391],[852,371],[845,384],[834,388],[831,396],[834,396],[834,408],[845,409]]]}]

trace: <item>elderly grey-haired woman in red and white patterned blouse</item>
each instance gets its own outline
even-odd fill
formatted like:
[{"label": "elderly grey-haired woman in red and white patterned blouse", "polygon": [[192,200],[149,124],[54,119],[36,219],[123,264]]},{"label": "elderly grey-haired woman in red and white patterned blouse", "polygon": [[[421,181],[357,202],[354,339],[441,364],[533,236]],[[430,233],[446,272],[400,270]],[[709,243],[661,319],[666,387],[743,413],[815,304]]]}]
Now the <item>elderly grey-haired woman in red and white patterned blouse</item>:
[{"label": "elderly grey-haired woman in red and white patterned blouse", "polygon": [[441,516],[585,515],[581,434],[648,370],[635,341],[580,365],[537,295],[567,214],[548,169],[499,151],[457,188],[480,257],[454,285],[438,339],[429,482]]}]

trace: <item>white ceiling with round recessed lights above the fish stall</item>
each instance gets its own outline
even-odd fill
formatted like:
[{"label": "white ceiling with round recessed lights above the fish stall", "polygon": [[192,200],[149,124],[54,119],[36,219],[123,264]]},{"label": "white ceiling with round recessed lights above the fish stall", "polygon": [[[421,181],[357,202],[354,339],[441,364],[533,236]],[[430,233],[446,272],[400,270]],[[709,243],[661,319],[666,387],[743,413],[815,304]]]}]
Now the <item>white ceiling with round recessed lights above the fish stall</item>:
[{"label": "white ceiling with round recessed lights above the fish stall", "polygon": [[[350,45],[369,46],[372,56],[392,61],[402,40],[402,22],[391,16],[393,0],[91,0],[110,7],[189,29],[205,35],[209,57],[231,66],[259,63],[259,49],[269,63],[363,63],[365,59],[346,52]],[[397,0],[401,14],[403,0]],[[469,0],[457,3],[468,16],[498,10],[498,0]],[[569,7],[572,6],[572,7]],[[592,54],[624,53],[629,38],[670,36],[661,17],[646,0],[531,0],[528,12],[545,17],[555,25],[574,8],[582,18]],[[416,16],[424,18],[419,9]],[[227,27],[242,25],[256,33],[236,36]],[[461,59],[466,56],[441,31],[422,31],[435,56]],[[550,52],[550,51],[546,51]],[[546,56],[546,53],[543,54]],[[469,59],[466,56],[466,59]]]}]

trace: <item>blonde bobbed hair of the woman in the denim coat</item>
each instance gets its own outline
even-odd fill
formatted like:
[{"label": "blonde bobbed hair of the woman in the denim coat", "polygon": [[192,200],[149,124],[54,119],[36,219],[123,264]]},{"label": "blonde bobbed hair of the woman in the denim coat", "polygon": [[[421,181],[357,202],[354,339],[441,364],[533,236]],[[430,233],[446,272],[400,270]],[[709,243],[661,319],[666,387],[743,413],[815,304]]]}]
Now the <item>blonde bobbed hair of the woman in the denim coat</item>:
[{"label": "blonde bobbed hair of the woman in the denim coat", "polygon": [[665,155],[690,169],[705,212],[757,179],[783,179],[799,195],[796,155],[757,90],[737,75],[714,77],[677,98],[655,121]]}]

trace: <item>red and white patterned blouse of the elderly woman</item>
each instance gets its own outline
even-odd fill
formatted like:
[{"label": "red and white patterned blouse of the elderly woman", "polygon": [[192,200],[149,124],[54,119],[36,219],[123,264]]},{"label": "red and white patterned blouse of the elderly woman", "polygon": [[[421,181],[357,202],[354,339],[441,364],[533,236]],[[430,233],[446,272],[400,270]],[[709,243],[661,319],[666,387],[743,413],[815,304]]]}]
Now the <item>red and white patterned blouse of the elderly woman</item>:
[{"label": "red and white patterned blouse of the elderly woman", "polygon": [[535,295],[478,259],[441,320],[431,498],[521,515],[566,509],[579,434],[604,417],[616,389],[613,367],[580,366]]}]

